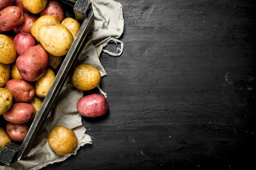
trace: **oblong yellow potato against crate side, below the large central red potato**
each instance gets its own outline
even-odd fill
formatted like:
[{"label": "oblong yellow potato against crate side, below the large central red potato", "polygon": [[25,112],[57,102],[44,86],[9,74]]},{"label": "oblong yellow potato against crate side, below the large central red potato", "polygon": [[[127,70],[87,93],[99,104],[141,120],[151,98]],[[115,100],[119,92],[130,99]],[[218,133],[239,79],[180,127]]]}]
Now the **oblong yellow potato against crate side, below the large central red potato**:
[{"label": "oblong yellow potato against crate side, below the large central red potato", "polygon": [[47,68],[46,73],[36,81],[36,96],[45,97],[55,79],[55,73],[51,68]]}]

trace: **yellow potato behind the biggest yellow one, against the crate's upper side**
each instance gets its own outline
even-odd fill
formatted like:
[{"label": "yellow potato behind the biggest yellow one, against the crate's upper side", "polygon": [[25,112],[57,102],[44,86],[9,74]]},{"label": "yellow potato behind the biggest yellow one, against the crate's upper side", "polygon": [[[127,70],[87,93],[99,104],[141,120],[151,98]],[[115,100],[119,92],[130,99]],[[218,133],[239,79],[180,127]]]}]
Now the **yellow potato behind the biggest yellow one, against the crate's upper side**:
[{"label": "yellow potato behind the biggest yellow one, against the crate's upper side", "polygon": [[76,35],[81,27],[81,24],[77,20],[70,17],[65,18],[61,22],[61,25],[65,26],[68,30],[70,30],[74,39],[76,38]]}]

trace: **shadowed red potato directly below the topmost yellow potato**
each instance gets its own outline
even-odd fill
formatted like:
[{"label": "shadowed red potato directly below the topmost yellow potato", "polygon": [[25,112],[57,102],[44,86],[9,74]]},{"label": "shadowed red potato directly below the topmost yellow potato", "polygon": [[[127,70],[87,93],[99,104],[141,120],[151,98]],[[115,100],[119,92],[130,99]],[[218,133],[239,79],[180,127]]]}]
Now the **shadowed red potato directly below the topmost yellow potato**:
[{"label": "shadowed red potato directly below the topmost yellow potato", "polygon": [[24,13],[24,22],[16,27],[13,28],[13,31],[18,33],[31,33],[31,27],[36,22],[36,20],[39,18],[38,15],[35,15],[33,13],[27,12]]}]

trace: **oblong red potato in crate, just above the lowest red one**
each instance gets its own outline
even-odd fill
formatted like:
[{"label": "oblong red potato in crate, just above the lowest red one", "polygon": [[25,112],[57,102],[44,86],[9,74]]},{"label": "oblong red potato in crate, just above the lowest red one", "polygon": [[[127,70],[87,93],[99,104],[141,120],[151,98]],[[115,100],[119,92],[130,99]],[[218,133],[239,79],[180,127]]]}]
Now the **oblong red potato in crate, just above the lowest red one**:
[{"label": "oblong red potato in crate, just above the lowest red one", "polygon": [[11,108],[3,114],[5,120],[13,124],[24,124],[34,119],[36,109],[29,103],[13,103]]}]

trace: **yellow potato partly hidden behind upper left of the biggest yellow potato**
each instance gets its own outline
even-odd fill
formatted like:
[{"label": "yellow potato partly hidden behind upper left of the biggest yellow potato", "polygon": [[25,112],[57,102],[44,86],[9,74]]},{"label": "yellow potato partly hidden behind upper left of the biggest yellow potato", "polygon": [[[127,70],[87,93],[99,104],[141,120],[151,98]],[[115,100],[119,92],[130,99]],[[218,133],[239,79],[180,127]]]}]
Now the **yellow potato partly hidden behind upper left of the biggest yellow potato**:
[{"label": "yellow potato partly hidden behind upper left of the biggest yellow potato", "polygon": [[33,35],[33,37],[36,39],[36,41],[39,42],[39,38],[38,38],[38,31],[40,26],[42,26],[43,24],[47,24],[47,23],[56,23],[59,24],[60,22],[58,21],[58,19],[53,16],[53,15],[43,15],[41,17],[39,17],[36,22],[34,22],[34,24],[31,27],[31,34]]}]

